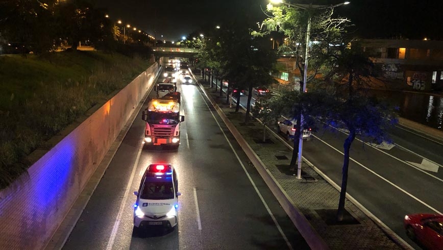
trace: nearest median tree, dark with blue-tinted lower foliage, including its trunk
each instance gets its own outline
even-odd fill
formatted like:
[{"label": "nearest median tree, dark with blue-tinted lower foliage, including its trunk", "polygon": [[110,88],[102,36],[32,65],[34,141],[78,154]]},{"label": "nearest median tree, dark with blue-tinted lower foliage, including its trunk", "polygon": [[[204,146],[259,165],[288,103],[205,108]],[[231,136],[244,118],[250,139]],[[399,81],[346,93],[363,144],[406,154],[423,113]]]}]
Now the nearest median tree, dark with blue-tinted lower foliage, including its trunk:
[{"label": "nearest median tree, dark with blue-tinted lower foliage, including its trunk", "polygon": [[343,219],[344,202],[348,185],[350,149],[356,136],[363,141],[390,142],[388,130],[397,123],[395,108],[372,96],[364,88],[371,80],[373,64],[358,49],[344,49],[335,57],[333,86],[319,90],[323,107],[317,110],[325,128],[346,129],[348,137],[343,143],[343,166],[337,221]]}]

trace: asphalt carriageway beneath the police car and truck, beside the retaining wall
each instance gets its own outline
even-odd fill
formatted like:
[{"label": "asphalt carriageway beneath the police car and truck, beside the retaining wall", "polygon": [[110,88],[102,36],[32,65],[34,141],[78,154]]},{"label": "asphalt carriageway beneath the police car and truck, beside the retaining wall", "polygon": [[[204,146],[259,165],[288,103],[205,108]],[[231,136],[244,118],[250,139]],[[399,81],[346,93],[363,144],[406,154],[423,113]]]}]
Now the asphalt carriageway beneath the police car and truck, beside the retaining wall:
[{"label": "asphalt carriageway beneath the police car and truck, beside the retaining wall", "polygon": [[[179,149],[143,149],[140,111],[63,249],[309,249],[200,88],[178,91]],[[178,172],[179,223],[136,234],[133,191],[152,163]]]}]

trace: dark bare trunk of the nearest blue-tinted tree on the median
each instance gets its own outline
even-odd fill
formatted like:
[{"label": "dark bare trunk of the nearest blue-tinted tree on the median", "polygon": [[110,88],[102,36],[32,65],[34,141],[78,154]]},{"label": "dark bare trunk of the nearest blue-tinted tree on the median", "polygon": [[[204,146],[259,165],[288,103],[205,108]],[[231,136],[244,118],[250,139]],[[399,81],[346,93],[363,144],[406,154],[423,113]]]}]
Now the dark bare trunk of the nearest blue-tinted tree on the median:
[{"label": "dark bare trunk of the nearest blue-tinted tree on the median", "polygon": [[348,169],[349,169],[349,150],[351,149],[351,144],[355,139],[355,129],[349,128],[349,136],[344,140],[343,149],[343,169],[341,176],[341,191],[340,191],[340,199],[338,202],[337,209],[337,221],[343,220],[344,213],[344,201],[346,199],[346,188],[348,187]]}]

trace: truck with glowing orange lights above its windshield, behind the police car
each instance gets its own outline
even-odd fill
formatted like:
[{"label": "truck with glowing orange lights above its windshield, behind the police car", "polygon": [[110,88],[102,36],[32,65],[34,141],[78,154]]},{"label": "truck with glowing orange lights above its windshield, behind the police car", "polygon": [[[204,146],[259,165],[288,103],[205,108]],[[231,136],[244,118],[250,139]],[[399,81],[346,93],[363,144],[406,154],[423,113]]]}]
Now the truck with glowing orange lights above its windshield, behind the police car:
[{"label": "truck with glowing orange lights above its windshield, behind the police car", "polygon": [[144,131],[145,145],[166,145],[178,148],[180,145],[180,122],[185,120],[180,115],[180,93],[170,93],[163,98],[149,101],[142,112],[146,122]]}]

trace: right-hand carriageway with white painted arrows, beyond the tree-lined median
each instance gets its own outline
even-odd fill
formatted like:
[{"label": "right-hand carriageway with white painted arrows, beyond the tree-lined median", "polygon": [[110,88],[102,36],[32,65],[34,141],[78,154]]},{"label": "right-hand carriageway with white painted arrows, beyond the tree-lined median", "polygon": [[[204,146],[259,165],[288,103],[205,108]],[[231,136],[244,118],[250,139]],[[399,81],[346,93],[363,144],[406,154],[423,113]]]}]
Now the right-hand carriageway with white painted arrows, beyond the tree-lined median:
[{"label": "right-hand carriageway with white painted arrows, beyond the tree-lined median", "polygon": [[[243,107],[247,97],[241,96]],[[392,147],[353,142],[347,192],[418,249],[405,234],[403,218],[411,213],[443,213],[443,144],[401,126],[390,134]],[[319,129],[303,144],[303,156],[339,186],[346,137],[346,131]]]}]

